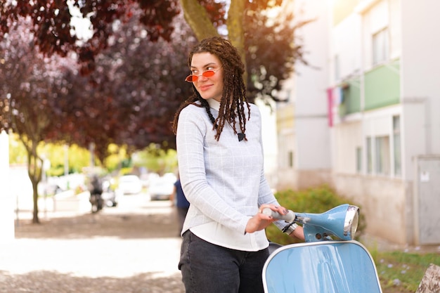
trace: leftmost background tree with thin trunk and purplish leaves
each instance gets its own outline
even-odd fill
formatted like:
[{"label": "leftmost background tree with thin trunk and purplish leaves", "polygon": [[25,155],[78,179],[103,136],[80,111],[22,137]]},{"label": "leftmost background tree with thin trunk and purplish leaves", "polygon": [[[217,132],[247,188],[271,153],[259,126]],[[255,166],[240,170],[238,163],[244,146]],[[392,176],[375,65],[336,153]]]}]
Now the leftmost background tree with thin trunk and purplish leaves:
[{"label": "leftmost background tree with thin trunk and purplish leaves", "polygon": [[55,101],[65,91],[60,71],[72,64],[58,56],[45,58],[37,52],[29,27],[17,23],[0,43],[0,56],[4,56],[0,60],[0,129],[13,129],[25,146],[33,188],[32,221],[39,223],[37,185],[43,174],[44,158],[37,148],[55,132],[59,117]]}]

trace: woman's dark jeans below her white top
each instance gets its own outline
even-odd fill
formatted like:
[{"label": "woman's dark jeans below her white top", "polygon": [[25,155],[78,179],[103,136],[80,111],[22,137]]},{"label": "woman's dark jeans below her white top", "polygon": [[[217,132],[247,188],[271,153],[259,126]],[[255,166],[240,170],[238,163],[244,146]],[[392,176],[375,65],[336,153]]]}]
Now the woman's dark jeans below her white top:
[{"label": "woman's dark jeans below her white top", "polygon": [[263,293],[268,249],[243,252],[183,234],[179,270],[187,293]]}]

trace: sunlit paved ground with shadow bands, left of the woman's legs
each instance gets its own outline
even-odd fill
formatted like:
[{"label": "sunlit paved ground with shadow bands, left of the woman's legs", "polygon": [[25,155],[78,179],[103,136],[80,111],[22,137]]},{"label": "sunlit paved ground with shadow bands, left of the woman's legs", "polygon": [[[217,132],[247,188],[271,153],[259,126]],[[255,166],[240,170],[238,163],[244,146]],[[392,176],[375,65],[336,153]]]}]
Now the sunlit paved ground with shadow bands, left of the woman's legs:
[{"label": "sunlit paved ground with shadow bands, left of the woman's legs", "polygon": [[126,195],[98,214],[20,220],[0,245],[0,292],[183,292],[168,201]]}]

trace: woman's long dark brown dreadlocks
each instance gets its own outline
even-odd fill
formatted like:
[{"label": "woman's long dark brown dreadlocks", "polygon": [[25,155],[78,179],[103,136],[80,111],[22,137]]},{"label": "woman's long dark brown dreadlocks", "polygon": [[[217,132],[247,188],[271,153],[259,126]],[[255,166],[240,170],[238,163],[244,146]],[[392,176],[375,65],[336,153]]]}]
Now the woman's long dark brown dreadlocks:
[{"label": "woman's long dark brown dreadlocks", "polygon": [[[173,131],[176,134],[177,123],[179,122],[179,114],[186,106],[195,104],[196,101],[200,101],[201,106],[206,109],[209,119],[211,119],[213,129],[216,129],[215,138],[218,141],[221,131],[223,131],[226,123],[231,124],[234,133],[237,134],[235,128],[235,120],[238,117],[238,123],[240,126],[240,132],[245,134],[246,130],[246,115],[245,105],[247,107],[248,117],[250,117],[250,105],[246,100],[246,87],[243,81],[243,73],[245,72],[245,65],[243,65],[238,50],[232,46],[231,42],[221,37],[211,37],[204,39],[200,44],[194,46],[190,51],[188,57],[188,66],[191,66],[193,55],[196,53],[211,53],[219,58],[221,67],[223,68],[223,93],[220,100],[219,117],[214,119],[207,100],[200,96],[200,93],[195,89],[193,85],[194,93],[190,98],[185,100],[174,115]],[[246,138],[245,138],[246,139]]]}]

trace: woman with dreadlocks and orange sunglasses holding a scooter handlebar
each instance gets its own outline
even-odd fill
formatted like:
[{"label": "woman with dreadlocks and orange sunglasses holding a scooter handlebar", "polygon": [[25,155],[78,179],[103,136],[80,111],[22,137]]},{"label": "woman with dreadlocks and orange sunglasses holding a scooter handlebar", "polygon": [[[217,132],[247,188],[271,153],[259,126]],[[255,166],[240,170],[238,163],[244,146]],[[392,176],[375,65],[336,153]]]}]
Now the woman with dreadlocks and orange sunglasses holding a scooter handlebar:
[{"label": "woman with dreadlocks and orange sunglasses holding a scooter handlebar", "polygon": [[[261,117],[245,100],[245,67],[220,37],[196,45],[188,65],[194,95],[174,117],[179,174],[190,202],[181,233],[182,280],[186,292],[263,292],[264,228],[286,223],[261,211],[287,210],[264,178]],[[304,240],[300,226],[287,233]]]}]

